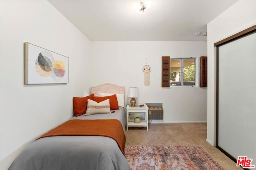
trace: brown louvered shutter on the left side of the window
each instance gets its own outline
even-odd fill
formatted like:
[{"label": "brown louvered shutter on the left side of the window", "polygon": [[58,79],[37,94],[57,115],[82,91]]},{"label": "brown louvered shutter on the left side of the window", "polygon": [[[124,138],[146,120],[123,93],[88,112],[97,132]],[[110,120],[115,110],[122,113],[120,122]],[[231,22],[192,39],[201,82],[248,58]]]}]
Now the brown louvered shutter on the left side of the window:
[{"label": "brown louvered shutter on the left side of the window", "polygon": [[162,57],[162,87],[170,87],[170,57]]}]

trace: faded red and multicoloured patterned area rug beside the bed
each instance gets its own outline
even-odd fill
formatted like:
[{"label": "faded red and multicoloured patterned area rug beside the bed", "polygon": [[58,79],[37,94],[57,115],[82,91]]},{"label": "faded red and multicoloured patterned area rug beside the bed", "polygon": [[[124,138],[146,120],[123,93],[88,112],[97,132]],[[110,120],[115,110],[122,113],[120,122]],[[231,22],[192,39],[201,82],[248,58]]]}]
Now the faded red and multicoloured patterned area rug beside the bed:
[{"label": "faded red and multicoloured patterned area rug beside the bed", "polygon": [[130,170],[223,170],[200,146],[126,146]]}]

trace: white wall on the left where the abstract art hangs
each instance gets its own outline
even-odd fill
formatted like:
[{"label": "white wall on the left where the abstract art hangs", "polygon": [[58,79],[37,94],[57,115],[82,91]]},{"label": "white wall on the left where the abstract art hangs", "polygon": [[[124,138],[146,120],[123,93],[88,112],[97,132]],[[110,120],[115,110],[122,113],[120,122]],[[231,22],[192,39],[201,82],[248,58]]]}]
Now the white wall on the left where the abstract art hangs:
[{"label": "white wall on the left where the abstract art hangs", "polygon": [[[0,1],[0,147],[6,170],[28,143],[72,117],[90,88],[90,41],[47,1]],[[69,57],[69,83],[24,85],[24,42]]]}]

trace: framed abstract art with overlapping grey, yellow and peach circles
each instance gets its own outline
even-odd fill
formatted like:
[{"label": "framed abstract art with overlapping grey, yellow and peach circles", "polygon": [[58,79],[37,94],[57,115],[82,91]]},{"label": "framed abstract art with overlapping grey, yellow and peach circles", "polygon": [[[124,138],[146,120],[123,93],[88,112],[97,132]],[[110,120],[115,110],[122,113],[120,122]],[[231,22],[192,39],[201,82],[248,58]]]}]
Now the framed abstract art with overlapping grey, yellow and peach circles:
[{"label": "framed abstract art with overlapping grey, yellow and peach circles", "polygon": [[68,83],[68,57],[25,42],[25,84]]}]

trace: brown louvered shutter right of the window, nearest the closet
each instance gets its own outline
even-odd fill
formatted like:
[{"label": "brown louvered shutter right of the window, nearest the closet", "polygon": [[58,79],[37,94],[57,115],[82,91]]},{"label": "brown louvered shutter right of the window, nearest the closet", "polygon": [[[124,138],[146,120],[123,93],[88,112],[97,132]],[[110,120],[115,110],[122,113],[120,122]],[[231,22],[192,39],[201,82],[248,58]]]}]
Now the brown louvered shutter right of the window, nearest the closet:
[{"label": "brown louvered shutter right of the window, nearest the closet", "polygon": [[200,87],[207,87],[207,57],[200,57]]}]

